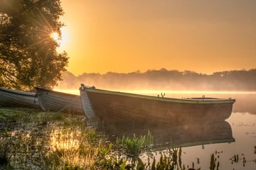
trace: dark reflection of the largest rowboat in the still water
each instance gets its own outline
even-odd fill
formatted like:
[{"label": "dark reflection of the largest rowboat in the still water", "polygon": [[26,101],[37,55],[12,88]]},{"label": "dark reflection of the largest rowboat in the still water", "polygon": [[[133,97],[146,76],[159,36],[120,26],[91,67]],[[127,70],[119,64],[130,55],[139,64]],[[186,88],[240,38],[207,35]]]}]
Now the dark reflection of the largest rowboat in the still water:
[{"label": "dark reflection of the largest rowboat in the still water", "polygon": [[166,147],[191,147],[214,143],[235,142],[230,124],[225,120],[211,123],[195,122],[193,124],[158,124],[158,125],[104,125],[98,128],[114,142],[117,137],[137,137],[147,135],[148,131],[154,137],[155,149]]}]

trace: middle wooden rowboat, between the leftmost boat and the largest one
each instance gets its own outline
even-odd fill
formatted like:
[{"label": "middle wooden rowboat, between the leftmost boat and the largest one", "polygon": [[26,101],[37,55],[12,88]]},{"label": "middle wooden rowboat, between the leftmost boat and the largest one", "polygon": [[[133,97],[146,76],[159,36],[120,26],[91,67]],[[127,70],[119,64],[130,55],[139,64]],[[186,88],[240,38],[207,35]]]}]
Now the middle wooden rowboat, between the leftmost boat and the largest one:
[{"label": "middle wooden rowboat, between the leftmost boat and the largest one", "polygon": [[36,94],[43,111],[84,113],[80,96],[36,87]]}]

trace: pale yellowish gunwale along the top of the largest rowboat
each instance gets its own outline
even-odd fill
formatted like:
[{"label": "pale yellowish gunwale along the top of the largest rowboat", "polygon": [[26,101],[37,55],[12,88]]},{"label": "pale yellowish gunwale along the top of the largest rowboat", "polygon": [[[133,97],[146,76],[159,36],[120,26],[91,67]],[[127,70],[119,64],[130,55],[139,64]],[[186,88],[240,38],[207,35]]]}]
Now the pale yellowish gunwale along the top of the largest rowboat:
[{"label": "pale yellowish gunwale along the top of the largest rowboat", "polygon": [[91,91],[95,93],[101,94],[112,94],[117,96],[129,96],[133,98],[144,98],[154,101],[166,101],[166,102],[175,102],[175,103],[195,103],[195,104],[216,104],[216,103],[235,103],[235,99],[233,98],[166,98],[160,96],[147,96],[143,94],[131,94],[127,92],[121,91],[108,91],[102,89],[93,89],[93,88],[85,88],[86,91]]}]

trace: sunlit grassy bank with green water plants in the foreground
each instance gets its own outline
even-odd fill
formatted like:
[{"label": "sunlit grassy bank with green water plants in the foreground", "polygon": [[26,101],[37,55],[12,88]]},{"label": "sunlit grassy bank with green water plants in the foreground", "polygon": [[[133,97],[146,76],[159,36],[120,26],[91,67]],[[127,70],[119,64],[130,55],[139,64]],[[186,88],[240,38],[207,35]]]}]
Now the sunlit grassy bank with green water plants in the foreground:
[{"label": "sunlit grassy bank with green water plants in the foreground", "polygon": [[[2,169],[189,169],[181,148],[154,159],[152,136],[106,137],[88,128],[84,115],[43,112],[29,108],[0,108],[0,166]],[[142,153],[149,162],[142,162]],[[217,169],[214,155],[211,169]]]}]

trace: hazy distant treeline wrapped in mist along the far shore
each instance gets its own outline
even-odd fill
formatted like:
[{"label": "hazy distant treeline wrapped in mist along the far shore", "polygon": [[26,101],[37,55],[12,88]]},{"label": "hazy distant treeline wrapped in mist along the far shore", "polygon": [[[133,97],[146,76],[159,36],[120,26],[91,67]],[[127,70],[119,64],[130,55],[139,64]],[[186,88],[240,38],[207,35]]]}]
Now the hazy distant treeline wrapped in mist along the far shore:
[{"label": "hazy distant treeline wrapped in mist along the far shore", "polygon": [[84,73],[75,77],[63,73],[60,89],[79,89],[80,84],[99,89],[151,89],[193,91],[256,91],[256,69],[201,74],[191,71],[148,70],[147,72],[106,74]]}]

